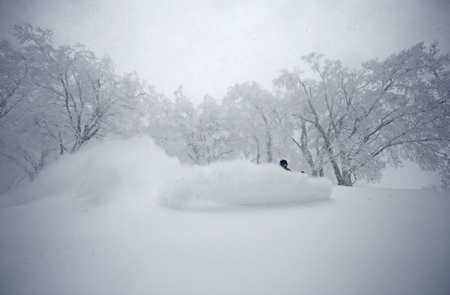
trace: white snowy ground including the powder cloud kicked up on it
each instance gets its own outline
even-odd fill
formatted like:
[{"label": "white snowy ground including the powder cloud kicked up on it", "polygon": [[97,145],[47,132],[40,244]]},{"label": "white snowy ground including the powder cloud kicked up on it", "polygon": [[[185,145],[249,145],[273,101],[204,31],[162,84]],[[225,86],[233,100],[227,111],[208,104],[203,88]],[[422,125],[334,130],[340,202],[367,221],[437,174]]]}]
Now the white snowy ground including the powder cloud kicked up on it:
[{"label": "white snowy ground including the powder cloud kicked up on it", "polygon": [[0,294],[450,294],[448,192],[110,138],[0,200]]}]

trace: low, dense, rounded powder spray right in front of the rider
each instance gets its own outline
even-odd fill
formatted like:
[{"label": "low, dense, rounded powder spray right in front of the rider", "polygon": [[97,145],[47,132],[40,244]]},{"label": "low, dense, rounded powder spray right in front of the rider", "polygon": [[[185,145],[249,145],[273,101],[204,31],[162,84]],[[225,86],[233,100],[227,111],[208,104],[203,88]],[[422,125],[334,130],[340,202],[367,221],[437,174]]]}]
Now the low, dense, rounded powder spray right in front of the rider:
[{"label": "low, dense, rounded powder spray right in front of the rider", "polygon": [[185,169],[161,191],[160,202],[180,209],[264,206],[326,200],[331,193],[332,182],[325,178],[235,160]]}]

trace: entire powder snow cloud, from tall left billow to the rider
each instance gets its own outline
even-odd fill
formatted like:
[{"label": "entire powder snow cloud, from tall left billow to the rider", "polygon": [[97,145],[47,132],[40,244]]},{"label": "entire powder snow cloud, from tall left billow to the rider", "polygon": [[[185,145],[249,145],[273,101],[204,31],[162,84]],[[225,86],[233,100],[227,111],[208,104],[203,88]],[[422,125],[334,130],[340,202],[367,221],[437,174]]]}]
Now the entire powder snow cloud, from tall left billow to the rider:
[{"label": "entire powder snow cloud, from tall left billow to the rider", "polygon": [[144,198],[174,208],[267,205],[330,198],[329,180],[243,160],[183,166],[150,137],[107,137],[65,155],[42,171],[14,202],[51,196],[104,205]]}]

